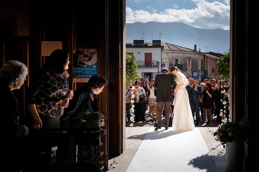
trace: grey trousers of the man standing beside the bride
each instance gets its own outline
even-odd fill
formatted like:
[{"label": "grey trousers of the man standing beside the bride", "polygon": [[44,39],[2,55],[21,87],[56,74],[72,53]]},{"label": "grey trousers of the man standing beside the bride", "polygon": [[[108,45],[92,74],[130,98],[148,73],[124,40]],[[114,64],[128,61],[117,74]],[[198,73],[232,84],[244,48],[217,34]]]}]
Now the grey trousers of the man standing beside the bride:
[{"label": "grey trousers of the man standing beside the bride", "polygon": [[170,109],[171,109],[171,101],[159,101],[157,102],[157,126],[161,126],[162,124],[162,111],[163,111],[163,106],[165,103],[165,127],[168,127],[169,125],[169,117],[170,117]]}]

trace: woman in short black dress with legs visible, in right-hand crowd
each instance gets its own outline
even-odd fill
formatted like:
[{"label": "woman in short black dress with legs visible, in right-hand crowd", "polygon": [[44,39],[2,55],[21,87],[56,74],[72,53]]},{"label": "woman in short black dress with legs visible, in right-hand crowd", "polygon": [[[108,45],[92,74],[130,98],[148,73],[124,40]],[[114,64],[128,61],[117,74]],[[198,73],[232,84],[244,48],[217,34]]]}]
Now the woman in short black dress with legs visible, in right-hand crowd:
[{"label": "woman in short black dress with legs visible, in right-hand crowd", "polygon": [[213,87],[211,83],[206,83],[206,88],[204,89],[204,91],[202,92],[203,94],[203,99],[202,99],[202,108],[203,108],[203,121],[202,123],[204,123],[205,120],[205,111],[207,110],[207,123],[206,124],[210,124],[210,109],[212,108],[212,106],[214,105],[213,103],[213,99],[214,99],[214,91],[213,91]]}]

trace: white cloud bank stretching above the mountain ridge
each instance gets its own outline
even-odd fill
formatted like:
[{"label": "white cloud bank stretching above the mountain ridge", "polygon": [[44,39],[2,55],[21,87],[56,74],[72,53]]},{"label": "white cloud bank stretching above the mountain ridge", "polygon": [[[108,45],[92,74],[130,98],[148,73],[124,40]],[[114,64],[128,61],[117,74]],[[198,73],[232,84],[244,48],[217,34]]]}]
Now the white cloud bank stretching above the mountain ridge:
[{"label": "white cloud bank stretching above the mountain ridge", "polygon": [[[192,0],[197,7],[194,9],[165,9],[163,12],[149,13],[145,10],[133,11],[126,7],[126,23],[137,21],[148,22],[183,22],[190,26],[203,29],[230,29],[230,6],[214,1]],[[152,8],[152,7],[147,7]]]}]

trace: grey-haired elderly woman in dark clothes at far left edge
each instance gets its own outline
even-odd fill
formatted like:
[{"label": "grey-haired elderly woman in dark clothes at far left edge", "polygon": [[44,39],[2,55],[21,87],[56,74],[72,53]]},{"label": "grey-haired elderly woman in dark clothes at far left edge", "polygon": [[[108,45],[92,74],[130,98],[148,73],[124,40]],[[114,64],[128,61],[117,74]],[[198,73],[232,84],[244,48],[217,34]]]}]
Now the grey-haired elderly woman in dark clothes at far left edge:
[{"label": "grey-haired elderly woman in dark clothes at far left edge", "polygon": [[[19,103],[12,93],[20,89],[28,74],[27,67],[18,61],[7,61],[0,69],[1,121],[2,121],[2,167],[8,164],[9,170],[18,170],[26,161],[24,147],[20,147],[20,137],[28,134],[28,127],[18,123],[20,116]],[[8,162],[5,162],[8,161]],[[9,165],[12,163],[13,165]]]}]

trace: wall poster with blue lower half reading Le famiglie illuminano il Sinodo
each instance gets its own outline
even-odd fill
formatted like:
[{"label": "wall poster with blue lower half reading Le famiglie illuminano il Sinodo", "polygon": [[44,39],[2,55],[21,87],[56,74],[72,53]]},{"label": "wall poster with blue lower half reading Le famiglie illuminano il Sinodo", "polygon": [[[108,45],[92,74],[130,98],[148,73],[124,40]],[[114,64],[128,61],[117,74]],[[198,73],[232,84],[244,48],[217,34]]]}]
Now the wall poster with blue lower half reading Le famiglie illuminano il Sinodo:
[{"label": "wall poster with blue lower half reading Le famiglie illuminano il Sinodo", "polygon": [[85,48],[73,51],[73,82],[88,82],[97,75],[97,49]]}]

